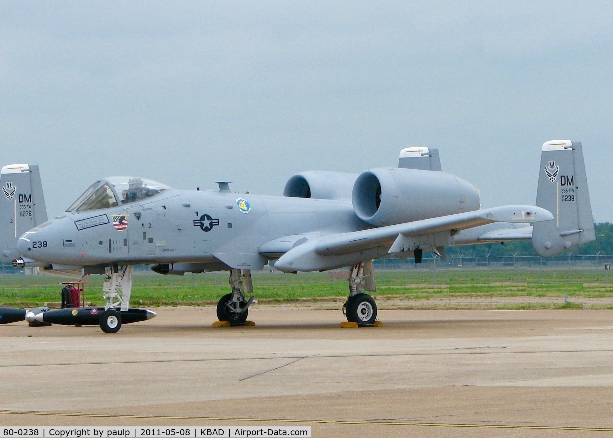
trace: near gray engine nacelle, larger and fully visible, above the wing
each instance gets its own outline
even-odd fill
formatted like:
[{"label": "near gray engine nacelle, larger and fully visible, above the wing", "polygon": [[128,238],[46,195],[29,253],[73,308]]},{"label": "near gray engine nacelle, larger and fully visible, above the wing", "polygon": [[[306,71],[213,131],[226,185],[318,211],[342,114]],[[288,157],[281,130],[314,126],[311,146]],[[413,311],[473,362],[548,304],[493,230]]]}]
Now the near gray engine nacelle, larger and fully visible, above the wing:
[{"label": "near gray engine nacelle, larger and fully visible, above the wing", "polygon": [[479,209],[479,192],[446,172],[378,167],[363,172],[352,191],[353,209],[376,226]]}]

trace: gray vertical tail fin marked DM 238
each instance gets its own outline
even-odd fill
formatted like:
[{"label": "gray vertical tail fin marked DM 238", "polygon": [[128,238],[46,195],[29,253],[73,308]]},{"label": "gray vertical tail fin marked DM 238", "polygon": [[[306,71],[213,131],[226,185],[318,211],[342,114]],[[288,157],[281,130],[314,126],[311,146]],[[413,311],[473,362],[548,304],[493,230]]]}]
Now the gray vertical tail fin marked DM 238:
[{"label": "gray vertical tail fin marked DM 238", "polygon": [[532,246],[538,255],[555,255],[596,239],[581,142],[543,144],[536,206],[554,215],[554,220],[533,226]]}]

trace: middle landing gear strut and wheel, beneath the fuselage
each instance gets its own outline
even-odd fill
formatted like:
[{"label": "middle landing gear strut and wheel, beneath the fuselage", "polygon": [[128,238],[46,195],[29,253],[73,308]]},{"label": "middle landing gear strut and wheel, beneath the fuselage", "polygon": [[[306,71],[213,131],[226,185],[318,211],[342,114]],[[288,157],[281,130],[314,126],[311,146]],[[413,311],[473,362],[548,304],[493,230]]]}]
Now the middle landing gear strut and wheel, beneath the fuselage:
[{"label": "middle landing gear strut and wheel, beneath the fuselage", "polygon": [[[230,269],[232,293],[226,294],[217,303],[217,318],[238,326],[245,323],[249,305],[253,302],[253,282],[249,269]],[[245,298],[245,290],[251,296]]]}]

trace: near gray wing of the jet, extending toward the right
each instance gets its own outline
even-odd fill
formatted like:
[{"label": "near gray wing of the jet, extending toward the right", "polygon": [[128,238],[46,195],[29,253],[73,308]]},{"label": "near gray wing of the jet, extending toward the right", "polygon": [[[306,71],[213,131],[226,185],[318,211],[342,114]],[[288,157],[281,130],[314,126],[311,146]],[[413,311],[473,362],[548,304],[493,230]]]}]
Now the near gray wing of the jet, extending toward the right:
[{"label": "near gray wing of the jet, extending toward the right", "polygon": [[[540,207],[503,206],[362,231],[327,235],[322,233],[311,239],[304,239],[299,245],[292,245],[292,248],[275,262],[275,268],[284,272],[323,271],[389,253],[399,255],[416,248],[452,245],[452,235],[462,229],[495,222],[536,223],[553,218],[549,211]],[[299,239],[291,240],[296,244]],[[262,245],[260,252],[264,252],[267,246],[269,245]]]}]

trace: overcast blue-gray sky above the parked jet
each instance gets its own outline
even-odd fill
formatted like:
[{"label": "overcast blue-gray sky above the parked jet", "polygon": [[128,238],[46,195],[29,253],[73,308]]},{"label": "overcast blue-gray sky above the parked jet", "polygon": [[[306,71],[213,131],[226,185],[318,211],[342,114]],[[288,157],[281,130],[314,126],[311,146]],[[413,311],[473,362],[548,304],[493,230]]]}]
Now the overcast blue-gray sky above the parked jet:
[{"label": "overcast blue-gray sky above the parked jet", "polygon": [[421,145],[495,206],[573,139],[613,221],[612,72],[611,1],[0,1],[0,164],[53,216],[108,175],[281,194]]}]

